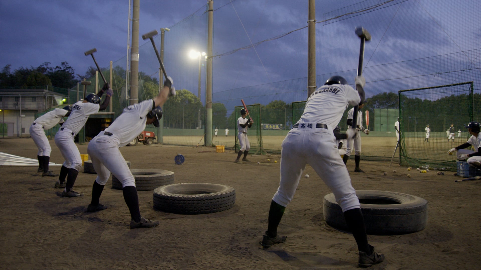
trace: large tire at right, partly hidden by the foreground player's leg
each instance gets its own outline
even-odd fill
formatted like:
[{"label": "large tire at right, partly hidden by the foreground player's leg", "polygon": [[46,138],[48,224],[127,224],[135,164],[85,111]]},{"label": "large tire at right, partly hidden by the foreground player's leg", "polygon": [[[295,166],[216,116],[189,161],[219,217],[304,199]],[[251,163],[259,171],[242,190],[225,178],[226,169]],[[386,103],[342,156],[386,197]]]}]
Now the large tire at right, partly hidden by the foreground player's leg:
[{"label": "large tire at right, partly hidden by the foreground player's leg", "polygon": [[[396,235],[426,228],[428,201],[423,198],[380,190],[356,190],[356,195],[367,234]],[[324,196],[324,220],[336,229],[350,231],[333,193]]]}]

